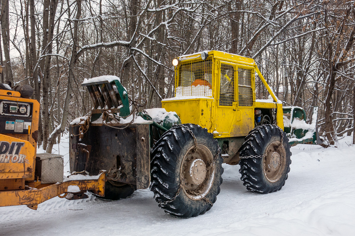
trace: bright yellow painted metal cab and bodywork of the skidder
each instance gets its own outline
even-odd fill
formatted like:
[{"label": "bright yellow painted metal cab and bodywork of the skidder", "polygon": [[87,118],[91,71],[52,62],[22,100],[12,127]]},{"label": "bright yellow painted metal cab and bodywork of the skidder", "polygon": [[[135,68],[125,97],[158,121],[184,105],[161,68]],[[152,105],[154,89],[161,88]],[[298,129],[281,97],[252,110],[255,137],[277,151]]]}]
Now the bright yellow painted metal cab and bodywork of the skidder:
[{"label": "bright yellow painted metal cab and bodywork of the skidder", "polygon": [[[179,69],[182,65],[185,66],[184,68],[190,68],[191,71],[193,71],[194,66],[196,67],[195,71],[201,68],[203,70],[207,70],[206,64],[202,67],[200,66],[203,60],[199,55],[200,54],[192,54],[179,57],[179,65],[175,67],[175,92],[177,92],[176,88],[178,88],[178,86],[185,86],[182,85],[184,82],[181,82],[184,79],[181,78],[181,76],[184,75],[180,75],[182,72],[180,72]],[[284,128],[282,104],[277,103],[276,96],[266,83],[252,58],[242,57],[221,51],[209,51],[208,57],[205,61],[207,60],[212,60],[212,71],[211,69],[208,69],[208,72],[205,72],[212,74],[212,80],[210,81],[212,85],[212,96],[196,97],[196,99],[191,99],[191,96],[185,98],[184,95],[182,97],[175,97],[174,99],[166,99],[162,101],[162,107],[165,108],[166,111],[175,111],[179,115],[182,123],[201,125],[201,127],[207,128],[210,133],[217,131],[214,132],[214,136],[220,138],[246,136],[255,125],[255,108],[277,109],[277,125],[282,129]],[[197,64],[194,65],[193,63]],[[234,74],[223,75],[221,65],[233,68]],[[200,67],[197,68],[197,66]],[[241,71],[241,75],[239,75],[239,71]],[[249,73],[249,77],[245,77],[245,71]],[[271,94],[274,100],[273,103],[255,101],[255,72],[259,75],[268,92]],[[195,74],[195,79],[196,76],[197,75]],[[220,96],[222,94],[222,91],[220,91],[222,89],[222,76],[225,76],[228,80],[230,80],[230,77],[235,78],[235,80],[233,80],[234,85],[232,86],[234,93],[233,101],[230,101],[229,105],[223,106],[220,105]],[[240,78],[244,80],[239,81]],[[250,84],[247,86],[243,85],[245,78],[248,78],[250,81]],[[248,91],[252,91],[252,94],[245,94],[246,90],[243,90],[245,88],[249,89]],[[250,102],[248,104],[240,103],[239,98],[243,96],[249,96],[248,99],[250,99]]]}]

